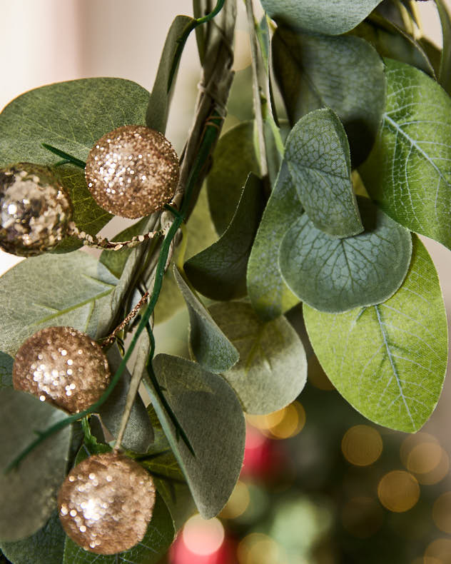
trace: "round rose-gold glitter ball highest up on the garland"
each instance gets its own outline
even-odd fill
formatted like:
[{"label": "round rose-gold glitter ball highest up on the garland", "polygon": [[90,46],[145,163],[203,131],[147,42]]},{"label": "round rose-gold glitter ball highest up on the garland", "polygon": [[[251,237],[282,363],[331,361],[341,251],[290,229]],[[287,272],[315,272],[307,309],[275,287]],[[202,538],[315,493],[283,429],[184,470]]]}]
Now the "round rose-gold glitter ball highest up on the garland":
[{"label": "round rose-gold glitter ball highest up on the garland", "polygon": [[86,161],[86,182],[99,206],[138,218],[163,208],[176,191],[180,170],[171,143],[145,126],[104,135]]}]

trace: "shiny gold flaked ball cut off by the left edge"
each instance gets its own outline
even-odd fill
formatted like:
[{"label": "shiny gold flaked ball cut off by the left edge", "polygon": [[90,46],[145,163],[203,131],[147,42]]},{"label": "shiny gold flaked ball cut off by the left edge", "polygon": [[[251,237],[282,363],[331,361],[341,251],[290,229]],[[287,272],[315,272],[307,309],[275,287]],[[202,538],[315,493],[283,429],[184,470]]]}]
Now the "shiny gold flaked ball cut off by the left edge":
[{"label": "shiny gold flaked ball cut off by the left edge", "polygon": [[0,247],[34,256],[50,251],[67,233],[71,201],[50,168],[17,163],[0,168]]}]

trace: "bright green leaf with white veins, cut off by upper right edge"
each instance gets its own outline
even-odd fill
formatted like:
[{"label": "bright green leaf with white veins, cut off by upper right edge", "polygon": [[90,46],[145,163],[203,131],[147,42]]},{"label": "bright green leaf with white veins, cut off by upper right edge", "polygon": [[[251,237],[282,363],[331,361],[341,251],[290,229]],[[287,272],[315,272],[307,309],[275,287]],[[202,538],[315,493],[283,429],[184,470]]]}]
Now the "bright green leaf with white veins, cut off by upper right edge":
[{"label": "bright green leaf with white veins, cut off by upper right edge", "polygon": [[386,64],[382,129],[360,169],[365,188],[395,221],[451,248],[451,99],[422,71]]}]

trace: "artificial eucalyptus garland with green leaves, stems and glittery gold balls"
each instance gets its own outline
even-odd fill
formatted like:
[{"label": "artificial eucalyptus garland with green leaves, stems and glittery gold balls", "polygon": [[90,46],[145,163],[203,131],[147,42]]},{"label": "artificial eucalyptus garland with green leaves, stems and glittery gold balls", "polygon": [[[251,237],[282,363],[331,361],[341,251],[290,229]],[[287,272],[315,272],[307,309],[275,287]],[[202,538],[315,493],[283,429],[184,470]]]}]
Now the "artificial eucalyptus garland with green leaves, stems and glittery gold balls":
[{"label": "artificial eucalyptus garland with green leaves, stems and glittery gold balls", "polygon": [[[312,354],[368,420],[406,433],[425,424],[447,323],[417,234],[451,248],[451,21],[429,1],[442,51],[422,37],[415,0],[262,0],[260,20],[245,0],[252,65],[235,75],[236,1],[194,0],[168,31],[150,93],[80,79],[1,112],[0,246],[37,255],[0,278],[0,548],[13,564],[158,563],[193,510],[221,512],[245,416],[302,400]],[[178,158],[164,135],[192,32],[201,88]],[[241,123],[221,134],[228,108]],[[47,200],[43,186],[54,187]],[[58,191],[70,229],[49,212]],[[139,220],[110,243],[97,233],[111,213]],[[180,308],[189,358],[153,334]],[[88,354],[84,341],[60,343],[64,331],[102,348],[111,373],[74,409],[46,401],[52,386],[76,393],[61,363]],[[28,350],[35,333],[46,338]],[[18,385],[31,356],[31,385]],[[38,398],[20,391],[36,386]],[[82,472],[96,460],[104,502],[89,494],[96,472]],[[136,488],[118,460],[144,477]],[[69,491],[76,480],[83,495]],[[83,516],[68,528],[71,495]]]}]

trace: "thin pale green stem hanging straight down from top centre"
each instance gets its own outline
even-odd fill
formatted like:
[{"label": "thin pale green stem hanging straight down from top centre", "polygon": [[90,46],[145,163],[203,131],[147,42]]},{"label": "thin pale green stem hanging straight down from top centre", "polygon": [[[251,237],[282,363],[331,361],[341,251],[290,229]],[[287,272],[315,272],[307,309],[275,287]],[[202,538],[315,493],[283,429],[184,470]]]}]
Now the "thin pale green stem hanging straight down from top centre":
[{"label": "thin pale green stem hanging straight down from top centre", "polygon": [[255,123],[258,131],[258,145],[260,147],[260,172],[263,182],[268,182],[268,158],[266,156],[265,129],[263,125],[263,111],[260,97],[260,85],[258,81],[258,39],[255,34],[255,16],[253,11],[252,0],[245,0],[246,14],[248,16],[248,29],[250,38],[250,52],[252,54],[252,86],[253,86],[253,102]]}]

